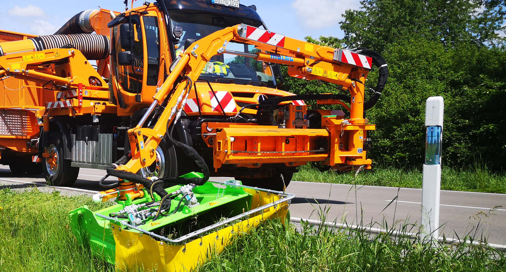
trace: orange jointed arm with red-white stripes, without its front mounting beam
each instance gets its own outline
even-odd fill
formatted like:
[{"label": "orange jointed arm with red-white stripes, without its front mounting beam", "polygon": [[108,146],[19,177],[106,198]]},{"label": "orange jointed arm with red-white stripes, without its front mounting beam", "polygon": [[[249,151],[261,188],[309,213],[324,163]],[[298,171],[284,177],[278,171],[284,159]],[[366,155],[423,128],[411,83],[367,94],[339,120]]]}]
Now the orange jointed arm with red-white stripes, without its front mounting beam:
[{"label": "orange jointed arm with red-white stripes, without its front mounting beam", "polygon": [[[186,82],[183,80],[174,92],[169,93],[174,83],[180,76],[186,76],[195,82],[206,63],[213,56],[224,53],[230,41],[252,44],[262,51],[276,52],[276,54],[257,53],[256,58],[265,62],[289,65],[290,76],[307,80],[323,80],[348,88],[352,95],[350,112],[351,118],[354,120],[353,123],[354,125],[365,125],[363,119],[364,86],[355,82],[358,80],[365,82],[372,63],[369,57],[240,24],[203,37],[181,53],[181,56],[173,64],[171,74],[155,94],[155,101],[150,107],[152,111],[155,103],[163,101],[166,95],[170,95],[164,111],[153,129],[141,128],[142,124],[139,124],[136,128],[129,130],[133,156],[126,165],[120,166],[118,170],[136,173],[142,167],[152,164],[156,157],[154,150],[165,135],[168,126],[176,121],[177,112],[181,111],[185,103],[184,95],[192,87],[192,84],[189,84],[189,88],[187,88]],[[352,61],[353,64],[351,64]],[[145,114],[146,118],[151,111]],[[353,142],[363,141],[363,139],[359,140],[358,135],[356,133],[356,137],[353,136]],[[336,152],[336,150],[330,150],[330,152]],[[362,157],[362,154],[359,156]],[[363,158],[365,159],[365,152]]]}]

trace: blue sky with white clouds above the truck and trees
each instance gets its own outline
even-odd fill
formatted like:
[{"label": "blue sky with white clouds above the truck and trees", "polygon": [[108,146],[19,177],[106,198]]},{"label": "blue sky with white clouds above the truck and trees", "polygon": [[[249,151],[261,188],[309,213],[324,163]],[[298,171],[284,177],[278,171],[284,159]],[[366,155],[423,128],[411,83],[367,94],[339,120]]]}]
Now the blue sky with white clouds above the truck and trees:
[{"label": "blue sky with white clouds above the truck and trees", "polygon": [[[0,29],[36,34],[53,34],[75,14],[101,7],[124,11],[123,0],[24,0],[9,2],[0,10]],[[131,0],[129,0],[130,8]],[[134,7],[143,1],[134,2]],[[270,31],[303,40],[306,36],[343,37],[339,27],[347,9],[358,9],[358,0],[240,0],[255,5]]]}]

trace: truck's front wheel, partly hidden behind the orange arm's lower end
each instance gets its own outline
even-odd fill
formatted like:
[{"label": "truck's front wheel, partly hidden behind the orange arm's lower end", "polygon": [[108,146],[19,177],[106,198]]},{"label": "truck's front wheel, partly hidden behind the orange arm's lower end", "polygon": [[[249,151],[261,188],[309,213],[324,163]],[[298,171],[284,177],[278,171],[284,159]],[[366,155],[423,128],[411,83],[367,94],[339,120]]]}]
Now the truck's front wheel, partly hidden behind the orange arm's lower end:
[{"label": "truck's front wheel, partly hidden behind the orange arm's lower end", "polygon": [[160,141],[156,148],[156,160],[148,167],[139,170],[138,174],[145,178],[177,177],[178,156],[174,145],[165,138]]}]

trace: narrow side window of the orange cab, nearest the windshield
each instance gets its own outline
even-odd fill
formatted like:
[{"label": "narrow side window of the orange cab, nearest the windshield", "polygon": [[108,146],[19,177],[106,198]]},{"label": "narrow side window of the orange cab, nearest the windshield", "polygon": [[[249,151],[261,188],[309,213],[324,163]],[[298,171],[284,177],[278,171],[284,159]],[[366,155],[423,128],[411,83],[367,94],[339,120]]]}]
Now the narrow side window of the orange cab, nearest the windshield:
[{"label": "narrow side window of the orange cab, nearest the windshield", "polygon": [[158,82],[158,71],[160,62],[160,39],[158,32],[158,21],[154,16],[144,16],[144,31],[146,33],[146,49],[148,54],[147,80],[146,84],[154,86]]}]

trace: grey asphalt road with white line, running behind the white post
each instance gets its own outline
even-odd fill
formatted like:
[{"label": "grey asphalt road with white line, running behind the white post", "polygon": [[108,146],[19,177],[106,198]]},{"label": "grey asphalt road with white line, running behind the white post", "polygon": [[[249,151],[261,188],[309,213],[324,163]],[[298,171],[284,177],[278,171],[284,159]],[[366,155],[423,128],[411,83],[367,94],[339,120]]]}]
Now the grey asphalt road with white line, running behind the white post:
[{"label": "grey asphalt road with white line, running behind the white post", "polygon": [[[98,181],[104,175],[103,170],[81,169],[74,187],[101,191]],[[45,186],[41,175],[16,175],[8,167],[0,166],[0,188],[13,184],[9,181]],[[287,191],[296,195],[290,206],[292,217],[374,228],[395,225],[399,229],[407,225],[406,231],[418,231],[421,189],[292,181]],[[470,235],[475,240],[485,237],[488,243],[506,245],[506,194],[441,191],[440,202],[440,236],[455,239]],[[492,207],[496,209],[490,211]]]}]

